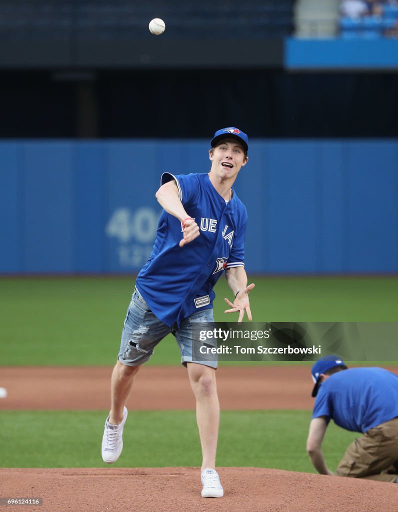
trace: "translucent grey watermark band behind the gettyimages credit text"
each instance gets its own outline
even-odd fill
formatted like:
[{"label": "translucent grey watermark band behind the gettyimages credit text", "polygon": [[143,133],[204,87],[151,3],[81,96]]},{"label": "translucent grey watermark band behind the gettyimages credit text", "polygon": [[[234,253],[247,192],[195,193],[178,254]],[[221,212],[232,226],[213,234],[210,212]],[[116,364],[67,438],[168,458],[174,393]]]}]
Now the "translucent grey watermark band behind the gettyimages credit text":
[{"label": "translucent grey watermark band behind the gettyimages credit text", "polygon": [[397,322],[192,323],[192,360],[398,361]]}]

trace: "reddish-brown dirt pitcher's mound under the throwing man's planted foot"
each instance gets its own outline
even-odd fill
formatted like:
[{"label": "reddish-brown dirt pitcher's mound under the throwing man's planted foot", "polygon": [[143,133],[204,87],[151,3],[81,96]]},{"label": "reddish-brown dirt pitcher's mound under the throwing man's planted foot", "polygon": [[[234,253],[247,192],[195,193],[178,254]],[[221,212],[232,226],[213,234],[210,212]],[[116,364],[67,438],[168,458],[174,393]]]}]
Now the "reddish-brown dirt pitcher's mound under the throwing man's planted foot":
[{"label": "reddish-brown dirt pitcher's mound under the throwing man's planted foot", "polygon": [[258,467],[218,471],[225,496],[212,499],[201,498],[192,467],[0,468],[0,497],[43,498],[32,512],[380,512],[398,498],[391,483]]}]

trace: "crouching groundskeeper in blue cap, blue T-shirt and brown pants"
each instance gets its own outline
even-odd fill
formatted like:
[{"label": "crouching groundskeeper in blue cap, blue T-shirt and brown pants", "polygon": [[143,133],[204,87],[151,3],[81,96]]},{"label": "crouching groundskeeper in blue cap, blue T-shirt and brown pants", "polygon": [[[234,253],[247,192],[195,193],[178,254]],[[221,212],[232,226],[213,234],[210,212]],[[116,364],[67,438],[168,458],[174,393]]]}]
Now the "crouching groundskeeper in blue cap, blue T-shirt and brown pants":
[{"label": "crouching groundskeeper in blue cap, blue T-shirt and brown pants", "polygon": [[[336,356],[311,370],[316,397],[307,452],[321,475],[398,483],[398,375],[383,368],[350,368]],[[363,435],[351,443],[336,473],[326,465],[322,441],[330,419]]]}]

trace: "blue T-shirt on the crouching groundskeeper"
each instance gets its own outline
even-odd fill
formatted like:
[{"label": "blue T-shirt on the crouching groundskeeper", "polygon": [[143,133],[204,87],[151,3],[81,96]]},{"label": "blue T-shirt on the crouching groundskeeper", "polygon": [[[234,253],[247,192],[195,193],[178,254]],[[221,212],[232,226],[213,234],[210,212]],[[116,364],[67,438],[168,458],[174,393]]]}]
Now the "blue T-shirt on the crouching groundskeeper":
[{"label": "blue T-shirt on the crouching groundskeeper", "polygon": [[312,418],[326,416],[343,429],[366,432],[398,417],[398,375],[383,368],[350,368],[322,382]]}]

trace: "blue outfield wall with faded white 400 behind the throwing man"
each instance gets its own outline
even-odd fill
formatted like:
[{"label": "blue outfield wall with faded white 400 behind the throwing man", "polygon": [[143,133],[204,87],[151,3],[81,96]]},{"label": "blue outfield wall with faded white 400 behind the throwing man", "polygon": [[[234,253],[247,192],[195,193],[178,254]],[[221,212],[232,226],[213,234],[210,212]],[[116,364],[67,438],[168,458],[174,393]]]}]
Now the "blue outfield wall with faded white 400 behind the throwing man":
[{"label": "blue outfield wall with faded white 400 behind the throwing man", "polygon": [[[208,142],[0,142],[0,273],[138,271],[162,172],[207,172]],[[398,271],[398,142],[252,140],[235,189],[248,273]],[[182,249],[183,250],[183,249]]]}]

